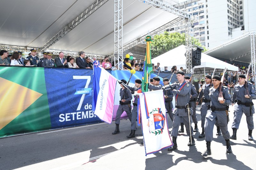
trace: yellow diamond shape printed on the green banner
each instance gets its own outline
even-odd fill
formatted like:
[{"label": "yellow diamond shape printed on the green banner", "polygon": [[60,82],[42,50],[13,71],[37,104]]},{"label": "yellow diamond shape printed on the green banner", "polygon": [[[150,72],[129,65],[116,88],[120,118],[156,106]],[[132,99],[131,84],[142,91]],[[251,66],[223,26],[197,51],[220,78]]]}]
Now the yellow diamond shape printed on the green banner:
[{"label": "yellow diamond shape printed on the green banner", "polygon": [[0,130],[43,94],[0,78]]}]

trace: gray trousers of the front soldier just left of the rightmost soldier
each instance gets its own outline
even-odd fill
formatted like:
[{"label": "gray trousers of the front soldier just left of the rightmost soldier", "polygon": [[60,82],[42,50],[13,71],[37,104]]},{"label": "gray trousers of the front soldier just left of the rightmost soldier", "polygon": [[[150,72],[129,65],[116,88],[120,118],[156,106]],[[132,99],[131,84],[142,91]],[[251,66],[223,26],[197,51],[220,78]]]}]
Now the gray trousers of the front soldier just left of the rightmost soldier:
[{"label": "gray trousers of the front soldier just left of the rightmost soldier", "polygon": [[227,120],[226,111],[214,111],[208,110],[204,123],[204,132],[205,132],[205,141],[212,142],[213,138],[213,127],[216,121],[218,120],[218,124],[216,126],[220,126],[220,130],[222,132],[222,136],[224,139],[229,139],[230,135],[228,132],[228,120]]}]

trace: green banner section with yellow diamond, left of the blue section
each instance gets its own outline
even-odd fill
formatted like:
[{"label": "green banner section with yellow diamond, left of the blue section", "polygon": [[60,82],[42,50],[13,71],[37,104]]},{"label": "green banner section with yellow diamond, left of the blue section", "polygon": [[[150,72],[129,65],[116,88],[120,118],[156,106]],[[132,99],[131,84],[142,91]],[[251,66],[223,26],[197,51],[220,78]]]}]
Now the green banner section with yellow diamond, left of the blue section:
[{"label": "green banner section with yellow diamond, left of the blue section", "polygon": [[51,129],[44,68],[0,67],[0,137]]}]

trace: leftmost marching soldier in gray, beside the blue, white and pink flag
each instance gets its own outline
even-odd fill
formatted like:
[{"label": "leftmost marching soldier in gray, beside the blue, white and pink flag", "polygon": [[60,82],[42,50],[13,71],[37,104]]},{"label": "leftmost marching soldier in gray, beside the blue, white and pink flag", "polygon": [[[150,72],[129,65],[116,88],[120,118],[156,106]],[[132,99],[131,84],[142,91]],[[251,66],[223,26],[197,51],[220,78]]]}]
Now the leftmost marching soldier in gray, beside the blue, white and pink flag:
[{"label": "leftmost marching soldier in gray, beside the blue, white and pink flag", "polygon": [[132,113],[131,113],[131,100],[132,100],[132,93],[127,90],[126,88],[124,88],[124,86],[122,85],[122,83],[126,84],[126,80],[122,79],[121,82],[119,83],[120,86],[122,87],[120,89],[120,97],[121,100],[119,101],[119,106],[118,109],[116,111],[116,129],[115,131],[112,133],[113,135],[116,135],[117,133],[119,133],[119,124],[120,124],[120,117],[122,115],[122,113],[125,111],[129,120],[132,122]]}]

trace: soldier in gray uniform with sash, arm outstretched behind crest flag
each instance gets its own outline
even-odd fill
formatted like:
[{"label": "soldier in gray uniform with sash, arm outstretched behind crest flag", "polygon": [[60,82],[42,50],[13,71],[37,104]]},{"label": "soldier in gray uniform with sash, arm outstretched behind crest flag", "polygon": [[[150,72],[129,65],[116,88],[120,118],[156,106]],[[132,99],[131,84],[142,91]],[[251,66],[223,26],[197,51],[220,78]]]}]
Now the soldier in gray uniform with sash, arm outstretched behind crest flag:
[{"label": "soldier in gray uniform with sash, arm outstretched behind crest flag", "polygon": [[[176,139],[178,137],[180,119],[182,118],[186,127],[187,135],[189,135],[188,146],[192,146],[195,144],[195,140],[193,137],[193,128],[191,125],[189,126],[188,109],[185,107],[190,100],[191,85],[190,83],[184,80],[184,75],[185,74],[183,71],[177,71],[176,76],[178,81],[172,83],[171,85],[165,85],[163,87],[163,90],[171,88],[173,94],[175,94],[175,99],[176,99],[176,105],[173,110],[173,123],[172,123],[172,132],[171,132],[173,146],[168,148],[168,151],[173,151],[178,148]],[[190,111],[191,111],[191,108],[190,108]],[[191,129],[192,143],[190,141],[189,128]]]}]

